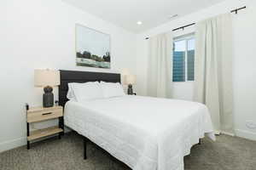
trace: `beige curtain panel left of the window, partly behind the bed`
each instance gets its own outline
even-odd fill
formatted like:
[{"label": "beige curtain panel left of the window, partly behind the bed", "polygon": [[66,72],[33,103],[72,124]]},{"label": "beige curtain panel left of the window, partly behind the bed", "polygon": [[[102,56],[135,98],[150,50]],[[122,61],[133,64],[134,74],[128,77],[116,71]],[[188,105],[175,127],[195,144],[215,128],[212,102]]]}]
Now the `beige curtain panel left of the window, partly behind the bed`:
[{"label": "beige curtain panel left of the window, partly behind the bed", "polygon": [[172,33],[150,37],[148,43],[148,95],[171,98]]}]

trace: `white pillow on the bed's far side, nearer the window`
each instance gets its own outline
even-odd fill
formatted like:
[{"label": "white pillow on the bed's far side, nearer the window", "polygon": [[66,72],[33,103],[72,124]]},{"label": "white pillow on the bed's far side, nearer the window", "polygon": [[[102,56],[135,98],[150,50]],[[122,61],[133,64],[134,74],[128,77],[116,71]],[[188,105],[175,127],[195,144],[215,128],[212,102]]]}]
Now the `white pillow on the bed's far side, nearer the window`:
[{"label": "white pillow on the bed's far side, nearer the window", "polygon": [[102,94],[104,98],[124,96],[125,92],[119,82],[101,82]]}]

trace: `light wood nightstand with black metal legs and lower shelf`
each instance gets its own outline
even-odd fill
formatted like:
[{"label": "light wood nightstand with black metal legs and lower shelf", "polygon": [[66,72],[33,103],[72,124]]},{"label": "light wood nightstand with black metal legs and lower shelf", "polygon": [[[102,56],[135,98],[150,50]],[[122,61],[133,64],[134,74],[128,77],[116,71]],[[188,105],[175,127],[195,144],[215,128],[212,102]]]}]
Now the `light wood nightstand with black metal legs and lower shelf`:
[{"label": "light wood nightstand with black metal legs and lower shelf", "polygon": [[[30,131],[30,123],[43,122],[50,119],[59,118],[59,126],[47,127],[44,129],[38,129]],[[30,149],[30,142],[34,139],[40,139],[46,136],[59,133],[59,139],[61,134],[64,133],[64,121],[63,121],[63,108],[62,106],[53,107],[32,107],[26,110],[26,135],[27,135],[27,150]]]}]

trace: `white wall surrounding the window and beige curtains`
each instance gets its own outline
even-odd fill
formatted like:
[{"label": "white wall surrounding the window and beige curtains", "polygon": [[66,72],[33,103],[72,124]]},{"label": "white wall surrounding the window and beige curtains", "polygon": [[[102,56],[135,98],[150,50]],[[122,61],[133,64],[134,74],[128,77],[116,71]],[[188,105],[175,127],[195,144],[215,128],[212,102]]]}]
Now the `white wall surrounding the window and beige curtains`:
[{"label": "white wall surrounding the window and beige curtains", "polygon": [[[236,135],[256,140],[256,129],[246,126],[247,122],[256,123],[256,12],[254,0],[228,0],[211,8],[205,8],[197,13],[172,20],[137,35],[137,94],[146,95],[148,41],[152,37],[179,26],[205,20],[218,14],[224,14],[231,9],[247,5],[247,9],[234,14],[234,114]],[[194,26],[185,29],[184,33],[195,31]],[[180,34],[183,31],[175,32]],[[177,99],[192,99],[193,82],[174,83],[174,97]],[[255,124],[256,125],[256,124]]]}]

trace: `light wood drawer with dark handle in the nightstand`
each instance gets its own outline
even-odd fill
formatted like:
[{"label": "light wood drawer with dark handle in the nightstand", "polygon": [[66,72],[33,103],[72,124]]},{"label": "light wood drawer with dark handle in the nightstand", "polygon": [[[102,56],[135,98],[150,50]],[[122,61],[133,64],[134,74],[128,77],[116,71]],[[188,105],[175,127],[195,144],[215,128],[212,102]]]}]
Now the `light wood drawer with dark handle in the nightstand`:
[{"label": "light wood drawer with dark handle in the nightstand", "polygon": [[53,119],[63,116],[62,109],[48,110],[48,111],[35,111],[27,113],[26,122],[41,122],[48,119]]}]

